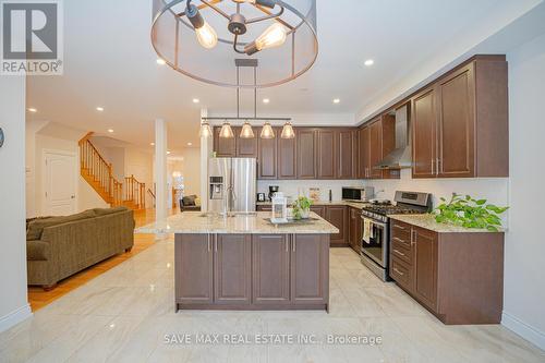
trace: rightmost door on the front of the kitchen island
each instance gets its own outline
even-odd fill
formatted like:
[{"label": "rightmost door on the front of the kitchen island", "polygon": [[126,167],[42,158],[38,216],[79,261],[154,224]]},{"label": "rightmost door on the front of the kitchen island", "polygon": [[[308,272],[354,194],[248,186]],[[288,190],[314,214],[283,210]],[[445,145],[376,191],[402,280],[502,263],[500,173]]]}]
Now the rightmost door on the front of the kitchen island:
[{"label": "rightmost door on the front of the kitchen island", "polygon": [[329,300],[329,238],[294,234],[291,249],[291,301],[293,304]]}]

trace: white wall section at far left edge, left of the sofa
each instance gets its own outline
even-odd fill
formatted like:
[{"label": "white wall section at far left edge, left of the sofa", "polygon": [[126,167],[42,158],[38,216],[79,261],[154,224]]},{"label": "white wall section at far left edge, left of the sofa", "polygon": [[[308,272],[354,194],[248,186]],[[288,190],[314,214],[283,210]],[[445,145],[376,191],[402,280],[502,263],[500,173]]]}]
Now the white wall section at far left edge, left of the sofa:
[{"label": "white wall section at far left edge, left of the sofa", "polygon": [[1,76],[0,331],[32,315],[26,298],[25,78]]}]

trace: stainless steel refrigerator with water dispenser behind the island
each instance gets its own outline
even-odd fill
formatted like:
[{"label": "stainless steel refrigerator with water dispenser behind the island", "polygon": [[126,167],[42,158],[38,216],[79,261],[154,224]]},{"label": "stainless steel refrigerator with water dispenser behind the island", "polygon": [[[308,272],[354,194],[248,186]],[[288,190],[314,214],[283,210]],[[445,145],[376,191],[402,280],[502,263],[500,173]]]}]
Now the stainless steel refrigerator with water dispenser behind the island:
[{"label": "stainless steel refrigerator with water dispenser behind the island", "polygon": [[208,160],[208,211],[255,211],[257,162],[254,158]]}]

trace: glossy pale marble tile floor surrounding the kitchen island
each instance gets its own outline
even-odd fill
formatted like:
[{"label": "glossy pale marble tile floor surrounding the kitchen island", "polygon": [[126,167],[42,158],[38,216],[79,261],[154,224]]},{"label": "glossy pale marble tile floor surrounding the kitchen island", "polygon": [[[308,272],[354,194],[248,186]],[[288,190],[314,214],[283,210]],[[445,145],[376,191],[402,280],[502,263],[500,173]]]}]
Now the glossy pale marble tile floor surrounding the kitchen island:
[{"label": "glossy pale marble tile floor surrounding the kitchen island", "polygon": [[[172,335],[380,337],[379,344],[196,344]],[[0,335],[0,362],[545,362],[499,325],[445,326],[349,249],[330,250],[330,313],[173,312],[173,242],[157,242]]]}]

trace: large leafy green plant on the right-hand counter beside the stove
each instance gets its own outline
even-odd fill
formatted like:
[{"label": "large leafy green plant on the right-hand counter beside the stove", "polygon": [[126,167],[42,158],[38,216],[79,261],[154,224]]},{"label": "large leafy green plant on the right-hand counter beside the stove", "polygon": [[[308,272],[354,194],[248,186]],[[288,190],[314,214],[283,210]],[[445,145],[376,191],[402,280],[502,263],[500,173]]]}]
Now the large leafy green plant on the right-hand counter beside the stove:
[{"label": "large leafy green plant on the right-hand counter beside the stove", "polygon": [[493,232],[501,228],[499,215],[509,207],[498,207],[487,204],[486,199],[474,199],[452,193],[449,202],[440,198],[441,204],[434,210],[435,220],[439,223],[450,223],[464,228],[487,229]]}]

